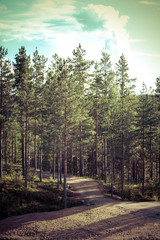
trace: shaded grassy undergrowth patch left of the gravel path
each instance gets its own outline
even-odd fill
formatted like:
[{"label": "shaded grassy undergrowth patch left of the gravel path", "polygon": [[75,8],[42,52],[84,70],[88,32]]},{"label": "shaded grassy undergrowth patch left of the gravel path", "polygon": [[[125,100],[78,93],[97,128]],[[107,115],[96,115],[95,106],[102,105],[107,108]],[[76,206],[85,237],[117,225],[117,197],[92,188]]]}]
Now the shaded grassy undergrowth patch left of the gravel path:
[{"label": "shaded grassy undergrowth patch left of the gravel path", "polygon": [[[82,205],[74,199],[74,193],[68,189],[68,207]],[[63,209],[63,187],[57,189],[57,181],[52,178],[39,182],[32,177],[28,188],[20,175],[7,175],[0,180],[0,219],[31,212],[47,212]]]}]

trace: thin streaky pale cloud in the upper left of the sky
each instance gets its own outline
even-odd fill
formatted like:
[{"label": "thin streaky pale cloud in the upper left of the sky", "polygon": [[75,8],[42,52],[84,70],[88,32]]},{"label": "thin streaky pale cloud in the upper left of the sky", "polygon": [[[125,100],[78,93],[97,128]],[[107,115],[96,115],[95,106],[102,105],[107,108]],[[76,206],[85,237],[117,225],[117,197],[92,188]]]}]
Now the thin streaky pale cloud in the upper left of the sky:
[{"label": "thin streaky pale cloud in the upper left of the sky", "polygon": [[[58,26],[50,27],[49,20],[64,20],[68,24],[77,22],[71,17],[75,7],[72,5],[74,0],[36,0],[30,6],[30,10],[24,13],[10,13],[8,20],[1,20],[0,30],[9,38],[32,39],[41,38],[50,41],[55,38],[60,31]],[[20,3],[21,4],[21,3]],[[1,9],[1,5],[0,5]],[[64,30],[64,29],[63,29]]]}]

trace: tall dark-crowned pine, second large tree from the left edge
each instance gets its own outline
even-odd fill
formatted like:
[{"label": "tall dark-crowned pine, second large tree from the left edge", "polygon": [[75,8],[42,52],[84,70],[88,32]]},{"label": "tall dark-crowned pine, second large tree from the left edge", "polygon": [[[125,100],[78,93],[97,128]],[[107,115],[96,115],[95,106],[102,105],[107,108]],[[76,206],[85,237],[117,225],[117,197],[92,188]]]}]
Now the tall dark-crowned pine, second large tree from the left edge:
[{"label": "tall dark-crowned pine, second large tree from the left edge", "polygon": [[25,187],[27,187],[28,171],[28,125],[32,95],[32,68],[30,56],[27,56],[25,47],[19,49],[14,63],[16,98],[18,102],[19,119],[22,133],[22,165],[25,169]]}]

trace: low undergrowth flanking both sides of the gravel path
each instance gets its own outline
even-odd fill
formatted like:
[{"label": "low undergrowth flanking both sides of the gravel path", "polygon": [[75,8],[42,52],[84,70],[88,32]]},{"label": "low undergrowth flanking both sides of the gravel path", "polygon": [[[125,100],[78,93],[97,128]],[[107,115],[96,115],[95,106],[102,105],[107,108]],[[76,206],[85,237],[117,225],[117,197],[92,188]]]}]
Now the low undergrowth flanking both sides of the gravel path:
[{"label": "low undergrowth flanking both sides of the gravel path", "polygon": [[[13,215],[49,212],[64,208],[63,184],[58,184],[58,180],[53,179],[50,172],[44,172],[44,178],[40,181],[39,171],[30,169],[27,188],[19,165],[8,164],[6,173],[0,179],[0,220]],[[99,186],[105,196],[121,199],[120,184],[115,184],[112,191],[110,184],[105,184],[102,180],[99,180]],[[154,183],[145,185],[144,193],[143,195],[140,185],[124,186],[124,200],[159,201],[160,185]],[[85,203],[68,187],[67,206],[83,204]]]}]

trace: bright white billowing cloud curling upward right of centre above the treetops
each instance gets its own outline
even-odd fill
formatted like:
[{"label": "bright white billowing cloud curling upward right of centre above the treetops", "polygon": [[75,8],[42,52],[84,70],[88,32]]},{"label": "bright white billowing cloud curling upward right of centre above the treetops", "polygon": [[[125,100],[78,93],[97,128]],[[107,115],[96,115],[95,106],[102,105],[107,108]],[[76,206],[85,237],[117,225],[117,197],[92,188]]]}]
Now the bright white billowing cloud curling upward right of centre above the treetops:
[{"label": "bright white billowing cloud curling upward right of centre above the treetops", "polygon": [[71,56],[73,49],[81,43],[82,47],[87,50],[88,59],[99,60],[107,41],[106,47],[114,62],[118,61],[122,52],[128,57],[130,39],[125,27],[129,17],[120,16],[119,11],[104,5],[89,4],[86,10],[94,12],[99,19],[104,20],[104,29],[94,32],[82,31],[80,24],[74,22],[75,30],[68,34],[56,33],[55,39],[51,39],[50,44],[55,46],[57,53],[60,56]]}]

